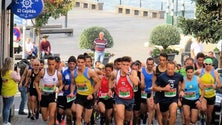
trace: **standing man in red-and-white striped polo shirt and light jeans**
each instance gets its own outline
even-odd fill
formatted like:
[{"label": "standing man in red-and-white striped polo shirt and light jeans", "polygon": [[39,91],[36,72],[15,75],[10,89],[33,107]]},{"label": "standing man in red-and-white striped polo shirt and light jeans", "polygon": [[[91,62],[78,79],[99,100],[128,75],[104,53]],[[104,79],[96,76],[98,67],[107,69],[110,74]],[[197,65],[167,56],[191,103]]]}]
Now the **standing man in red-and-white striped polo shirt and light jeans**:
[{"label": "standing man in red-and-white striped polo shirt and light jeans", "polygon": [[106,48],[107,40],[104,38],[104,33],[99,33],[99,38],[94,40],[94,48],[95,48],[95,62],[100,61],[103,63],[103,59],[105,56],[105,48]]}]

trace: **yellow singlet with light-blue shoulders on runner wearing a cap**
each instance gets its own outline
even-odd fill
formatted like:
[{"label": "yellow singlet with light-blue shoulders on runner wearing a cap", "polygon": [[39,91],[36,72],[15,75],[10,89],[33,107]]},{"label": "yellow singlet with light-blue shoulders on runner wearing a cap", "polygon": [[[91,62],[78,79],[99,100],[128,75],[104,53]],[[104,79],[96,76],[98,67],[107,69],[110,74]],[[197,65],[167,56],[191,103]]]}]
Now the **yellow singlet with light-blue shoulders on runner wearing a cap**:
[{"label": "yellow singlet with light-blue shoulders on runner wearing a cap", "polygon": [[[211,70],[210,73],[206,73],[204,69],[202,69],[200,74],[200,79],[203,84],[214,84],[215,83],[214,70]],[[214,96],[216,96],[216,94],[213,87],[205,88],[204,97],[211,98]]]}]

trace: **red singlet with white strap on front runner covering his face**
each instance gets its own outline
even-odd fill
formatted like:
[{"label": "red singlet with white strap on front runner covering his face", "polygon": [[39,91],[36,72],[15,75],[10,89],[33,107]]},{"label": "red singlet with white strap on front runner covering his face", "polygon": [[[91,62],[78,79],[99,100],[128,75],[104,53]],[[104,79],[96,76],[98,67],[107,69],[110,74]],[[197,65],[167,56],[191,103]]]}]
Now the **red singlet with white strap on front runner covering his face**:
[{"label": "red singlet with white strap on front runner covering his face", "polygon": [[116,95],[122,99],[133,99],[133,83],[129,76],[121,76],[120,70],[117,72]]}]

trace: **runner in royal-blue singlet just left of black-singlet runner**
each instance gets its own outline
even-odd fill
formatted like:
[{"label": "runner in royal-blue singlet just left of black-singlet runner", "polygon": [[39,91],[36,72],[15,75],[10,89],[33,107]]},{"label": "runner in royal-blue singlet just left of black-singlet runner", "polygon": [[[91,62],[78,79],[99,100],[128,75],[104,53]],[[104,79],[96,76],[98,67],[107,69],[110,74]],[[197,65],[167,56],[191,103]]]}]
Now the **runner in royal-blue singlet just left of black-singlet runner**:
[{"label": "runner in royal-blue singlet just left of black-singlet runner", "polygon": [[152,124],[153,116],[154,116],[154,100],[153,100],[153,92],[151,91],[152,90],[153,66],[154,66],[153,58],[147,58],[146,67],[142,67],[143,79],[141,79],[141,87],[144,90],[141,93],[141,98],[145,99],[145,101],[146,101],[146,107],[147,107],[148,113],[149,113],[148,125]]}]

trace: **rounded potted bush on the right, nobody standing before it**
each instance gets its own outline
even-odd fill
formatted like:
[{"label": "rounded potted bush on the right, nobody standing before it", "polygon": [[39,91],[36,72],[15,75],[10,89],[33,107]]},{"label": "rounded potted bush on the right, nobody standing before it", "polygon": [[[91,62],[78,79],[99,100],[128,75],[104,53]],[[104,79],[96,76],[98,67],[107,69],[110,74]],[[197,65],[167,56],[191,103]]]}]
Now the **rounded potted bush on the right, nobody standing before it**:
[{"label": "rounded potted bush on the right, nobody standing before it", "polygon": [[[161,46],[161,48],[155,47],[151,51],[151,56],[156,60],[158,60],[160,53],[166,53],[168,60],[174,60],[175,55],[179,54],[179,51],[169,48],[170,45],[180,43],[180,33],[173,25],[162,24],[155,27],[151,32],[149,42],[153,45]],[[155,62],[158,63],[157,61]]]}]

